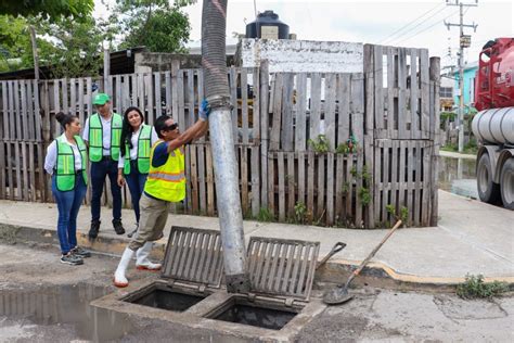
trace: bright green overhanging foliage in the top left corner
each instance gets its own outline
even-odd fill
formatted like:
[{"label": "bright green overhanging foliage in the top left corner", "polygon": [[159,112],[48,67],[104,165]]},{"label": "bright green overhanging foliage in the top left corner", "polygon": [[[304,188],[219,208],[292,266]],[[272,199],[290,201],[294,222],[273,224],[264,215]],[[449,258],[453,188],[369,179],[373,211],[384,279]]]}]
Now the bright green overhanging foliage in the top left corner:
[{"label": "bright green overhanging foliage in the top left corner", "polygon": [[38,16],[54,20],[61,16],[77,20],[88,17],[94,8],[94,0],[2,0],[0,14],[13,16]]}]

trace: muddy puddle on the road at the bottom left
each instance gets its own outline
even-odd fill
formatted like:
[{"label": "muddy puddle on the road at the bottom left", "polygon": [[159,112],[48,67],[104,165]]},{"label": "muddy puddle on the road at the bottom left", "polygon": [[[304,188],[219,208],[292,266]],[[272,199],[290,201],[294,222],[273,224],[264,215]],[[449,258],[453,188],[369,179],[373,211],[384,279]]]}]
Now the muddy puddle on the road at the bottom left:
[{"label": "muddy puddle on the road at the bottom left", "polygon": [[70,325],[81,340],[116,340],[133,329],[127,316],[89,305],[108,292],[107,288],[86,283],[2,289],[0,316],[39,326]]}]

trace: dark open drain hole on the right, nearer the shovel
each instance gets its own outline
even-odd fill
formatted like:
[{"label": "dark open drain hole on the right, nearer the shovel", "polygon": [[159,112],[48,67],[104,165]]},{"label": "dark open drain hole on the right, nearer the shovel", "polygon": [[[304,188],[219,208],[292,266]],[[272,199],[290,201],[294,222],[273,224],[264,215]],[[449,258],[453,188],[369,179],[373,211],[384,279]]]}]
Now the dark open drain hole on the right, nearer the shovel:
[{"label": "dark open drain hole on the right, nearer the shovel", "polygon": [[214,319],[244,323],[264,329],[280,330],[295,316],[295,313],[274,308],[234,304]]}]

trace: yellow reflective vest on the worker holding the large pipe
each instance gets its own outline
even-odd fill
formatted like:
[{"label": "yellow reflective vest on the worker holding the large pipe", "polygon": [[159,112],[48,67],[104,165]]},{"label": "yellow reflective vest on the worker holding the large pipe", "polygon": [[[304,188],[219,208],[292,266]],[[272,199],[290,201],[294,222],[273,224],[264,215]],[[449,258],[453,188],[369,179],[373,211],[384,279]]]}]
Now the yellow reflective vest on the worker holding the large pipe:
[{"label": "yellow reflective vest on the worker holding the large pipe", "polygon": [[[157,141],[152,148],[163,144]],[[168,160],[160,167],[150,165],[149,178],[144,183],[144,191],[150,195],[169,202],[179,202],[185,198],[185,163],[182,148],[176,149],[168,155]]]}]

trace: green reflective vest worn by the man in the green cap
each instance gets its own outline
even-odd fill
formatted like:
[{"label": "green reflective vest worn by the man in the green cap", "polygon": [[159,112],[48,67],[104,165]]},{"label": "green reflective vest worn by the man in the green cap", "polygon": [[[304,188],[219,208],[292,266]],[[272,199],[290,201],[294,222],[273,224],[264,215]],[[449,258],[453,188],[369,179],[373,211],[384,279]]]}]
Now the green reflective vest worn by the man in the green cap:
[{"label": "green reflective vest worn by the man in the green cap", "polygon": [[[111,158],[118,161],[119,140],[121,137],[121,127],[124,119],[113,113],[111,118]],[[95,113],[89,118],[89,160],[91,162],[102,161],[103,155],[103,128],[100,114]]]}]

